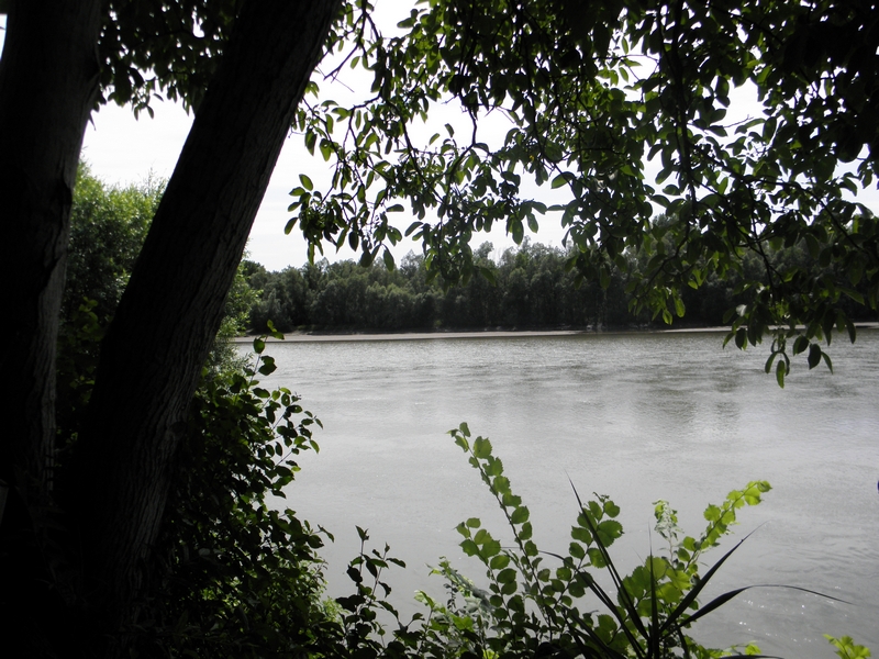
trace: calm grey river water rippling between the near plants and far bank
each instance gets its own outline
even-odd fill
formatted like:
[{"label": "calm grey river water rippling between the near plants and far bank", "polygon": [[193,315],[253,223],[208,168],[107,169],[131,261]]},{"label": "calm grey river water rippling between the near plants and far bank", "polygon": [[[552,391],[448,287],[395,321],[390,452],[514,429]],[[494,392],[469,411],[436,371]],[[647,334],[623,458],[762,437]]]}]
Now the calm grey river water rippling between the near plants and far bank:
[{"label": "calm grey river water rippling between the near plants and far bank", "polygon": [[[608,494],[625,535],[612,556],[631,569],[661,548],[653,502],[668,500],[693,536],[702,511],[749,480],[768,480],[764,503],[739,511],[723,547],[754,535],[715,577],[709,597],[746,591],[700,621],[693,636],[717,647],[756,641],[766,654],[832,657],[823,638],[849,635],[879,650],[879,332],[854,346],[837,336],[834,373],[794,361],[786,388],[764,373],[768,347],[722,349],[722,334],[287,342],[270,344],[278,370],[265,386],[299,393],[324,429],[304,455],[287,505],[335,535],[324,556],[330,594],[358,550],[387,543],[405,570],[387,576],[392,603],[442,596],[429,576],[441,556],[479,581],[454,527],[478,516],[497,536],[503,518],[446,434],[466,421],[491,438],[514,492],[531,509],[542,549],[565,552],[577,507]],[[570,482],[569,482],[570,479]],[[713,562],[715,549],[705,556]]]}]

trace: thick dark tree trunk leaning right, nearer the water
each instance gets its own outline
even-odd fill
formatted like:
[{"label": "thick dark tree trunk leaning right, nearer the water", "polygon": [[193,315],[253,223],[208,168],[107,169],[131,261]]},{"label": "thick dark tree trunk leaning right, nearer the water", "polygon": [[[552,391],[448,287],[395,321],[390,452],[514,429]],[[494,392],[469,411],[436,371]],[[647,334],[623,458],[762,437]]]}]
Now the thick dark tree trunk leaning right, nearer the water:
[{"label": "thick dark tree trunk leaning right, nearer the water", "polygon": [[[122,654],[179,428],[340,0],[248,2],[101,347],[67,482],[99,633]],[[69,491],[67,491],[69,488]]]}]

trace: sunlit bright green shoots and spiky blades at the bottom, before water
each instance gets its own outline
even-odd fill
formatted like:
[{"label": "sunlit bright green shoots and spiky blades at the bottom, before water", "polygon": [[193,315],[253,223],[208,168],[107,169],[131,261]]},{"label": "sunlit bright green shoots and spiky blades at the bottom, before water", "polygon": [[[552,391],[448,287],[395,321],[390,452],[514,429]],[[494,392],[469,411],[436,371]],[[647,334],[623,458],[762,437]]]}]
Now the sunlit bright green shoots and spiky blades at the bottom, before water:
[{"label": "sunlit bright green shoots and spiky blades at the bottom, before water", "polygon": [[[704,574],[700,558],[731,532],[736,511],[760,503],[770,489],[768,483],[754,481],[730,492],[721,505],[709,505],[704,514],[708,525],[699,537],[683,536],[677,513],[666,502],[657,502],[656,530],[668,543],[668,556],[652,552],[643,565],[622,576],[609,552],[623,533],[616,520],[620,509],[608,496],[597,494],[583,502],[575,490],[579,513],[568,552],[539,550],[528,509],[513,493],[491,443],[471,437],[467,424],[450,435],[494,495],[513,537],[513,546],[504,547],[478,518],[463,522],[458,525],[461,549],[485,565],[488,591],[461,578],[445,561],[437,572],[447,581],[448,603],[420,595],[434,616],[431,628],[450,635],[453,646],[461,648],[459,656],[760,656],[754,646],[744,654],[704,648],[689,636],[689,627],[747,590],[731,591],[700,606],[703,588],[741,543]],[[612,590],[602,585],[608,579]],[[596,602],[602,613],[582,611]]]}]

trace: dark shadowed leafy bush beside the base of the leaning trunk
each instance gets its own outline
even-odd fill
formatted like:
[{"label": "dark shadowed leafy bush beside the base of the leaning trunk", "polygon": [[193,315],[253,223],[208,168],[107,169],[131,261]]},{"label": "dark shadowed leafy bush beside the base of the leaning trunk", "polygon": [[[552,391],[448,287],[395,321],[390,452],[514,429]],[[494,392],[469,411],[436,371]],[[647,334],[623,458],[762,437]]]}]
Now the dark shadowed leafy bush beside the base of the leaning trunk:
[{"label": "dark shadowed leafy bush beside the base of the leaning trunk", "polygon": [[144,652],[300,657],[334,637],[322,529],[278,507],[296,457],[318,450],[320,421],[289,390],[259,386],[275,366],[262,339],[254,348],[257,364],[207,379],[191,403],[141,616]]}]

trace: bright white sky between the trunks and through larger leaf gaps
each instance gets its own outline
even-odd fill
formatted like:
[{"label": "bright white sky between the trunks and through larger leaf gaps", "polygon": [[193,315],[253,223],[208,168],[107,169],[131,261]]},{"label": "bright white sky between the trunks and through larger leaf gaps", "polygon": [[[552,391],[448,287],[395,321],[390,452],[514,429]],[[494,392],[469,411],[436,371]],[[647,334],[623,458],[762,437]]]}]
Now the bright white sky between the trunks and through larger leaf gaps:
[{"label": "bright white sky between the trunks and through larger leaf gaps", "polygon": [[[399,0],[376,2],[372,18],[386,37],[402,32],[397,29],[397,23],[409,15],[412,4]],[[321,71],[335,69],[338,60],[338,56],[325,58],[318,67],[319,80]],[[335,83],[320,80],[319,83],[322,98],[332,98],[340,103],[355,103],[371,96],[369,93],[371,81],[371,74],[363,69],[352,71],[349,67],[344,67],[341,80]],[[154,111],[155,118],[152,120],[145,113],[142,113],[140,120],[135,120],[130,109],[107,105],[92,115],[92,121],[86,131],[82,157],[89,163],[96,176],[109,183],[119,185],[141,181],[151,174],[160,178],[170,177],[192,118],[187,115],[181,105],[170,102],[156,102]],[[502,142],[509,124],[499,123],[500,119],[497,116],[480,121],[480,141],[489,144]],[[465,115],[442,105],[432,111],[430,125],[412,126],[412,132],[423,136],[426,142],[430,135],[442,131],[445,123],[453,124],[459,133],[461,131],[467,131],[465,134],[469,133],[470,126]],[[291,213],[287,211],[292,201],[289,192],[300,185],[299,177],[302,174],[313,180],[315,189],[329,189],[331,165],[332,163],[325,163],[320,154],[315,156],[309,154],[301,135],[288,134],[251,232],[247,258],[263,264],[269,270],[281,270],[288,266],[299,267],[307,263],[308,245],[298,227],[289,235],[283,233],[283,227],[291,217]],[[545,188],[548,189],[548,186]],[[542,196],[546,197],[546,192],[548,190],[543,190]],[[536,191],[530,191],[530,194],[536,194]],[[559,194],[556,193],[555,198],[558,199]],[[392,216],[393,224],[401,232],[404,232],[414,220],[415,217],[409,213],[398,213]],[[564,232],[557,219],[547,216],[539,222],[539,225],[541,231],[536,235],[531,234],[532,241],[561,246]],[[504,228],[497,226],[490,234],[475,236],[474,248],[486,241],[494,246],[492,257],[496,259],[503,249],[515,245]],[[391,247],[391,252],[399,263],[409,252],[420,254],[421,243],[404,237],[402,243]],[[332,245],[324,245],[324,256],[331,261],[359,258],[359,254],[347,247],[336,252]]]}]

